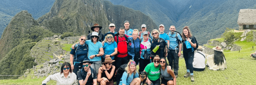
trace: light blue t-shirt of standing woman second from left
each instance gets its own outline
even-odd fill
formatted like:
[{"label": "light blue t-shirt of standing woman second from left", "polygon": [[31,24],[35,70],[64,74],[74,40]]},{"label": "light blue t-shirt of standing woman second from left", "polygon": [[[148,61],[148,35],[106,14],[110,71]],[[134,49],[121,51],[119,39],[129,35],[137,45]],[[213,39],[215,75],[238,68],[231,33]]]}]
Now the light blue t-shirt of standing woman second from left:
[{"label": "light blue t-shirt of standing woman second from left", "polygon": [[[86,44],[88,44],[88,58],[90,59],[91,55],[95,55],[95,54],[99,54],[99,48],[103,48],[102,43],[101,42],[96,42],[96,44],[94,44],[93,42],[91,42],[91,40],[86,40],[85,41]],[[90,61],[100,61],[101,57],[94,57],[93,59],[90,59]]]}]

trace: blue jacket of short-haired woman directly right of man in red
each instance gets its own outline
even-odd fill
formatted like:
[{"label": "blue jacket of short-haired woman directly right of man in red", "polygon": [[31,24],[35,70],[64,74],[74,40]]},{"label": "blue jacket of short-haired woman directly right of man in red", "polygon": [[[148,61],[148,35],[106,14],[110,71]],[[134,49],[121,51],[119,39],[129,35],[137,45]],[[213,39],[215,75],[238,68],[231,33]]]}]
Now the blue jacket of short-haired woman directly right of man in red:
[{"label": "blue jacket of short-haired woman directly right of man in red", "polygon": [[128,37],[128,42],[131,42],[131,46],[129,45],[129,48],[128,48],[128,54],[130,56],[134,57],[135,56],[134,44],[135,44],[135,51],[139,52],[140,51],[140,39],[137,38],[137,40],[133,40],[133,37]]}]

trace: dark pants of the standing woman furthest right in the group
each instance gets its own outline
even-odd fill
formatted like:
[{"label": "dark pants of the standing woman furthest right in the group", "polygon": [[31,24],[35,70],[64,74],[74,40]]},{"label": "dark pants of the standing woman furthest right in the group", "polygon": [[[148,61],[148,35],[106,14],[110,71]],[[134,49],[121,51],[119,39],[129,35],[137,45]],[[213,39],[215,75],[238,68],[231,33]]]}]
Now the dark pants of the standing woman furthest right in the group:
[{"label": "dark pants of the standing woman furthest right in the group", "polygon": [[193,60],[194,60],[194,54],[195,54],[195,51],[193,52],[185,52],[183,51],[183,56],[184,56],[184,59],[185,59],[185,62],[186,62],[186,69],[189,69],[190,73],[193,73]]}]

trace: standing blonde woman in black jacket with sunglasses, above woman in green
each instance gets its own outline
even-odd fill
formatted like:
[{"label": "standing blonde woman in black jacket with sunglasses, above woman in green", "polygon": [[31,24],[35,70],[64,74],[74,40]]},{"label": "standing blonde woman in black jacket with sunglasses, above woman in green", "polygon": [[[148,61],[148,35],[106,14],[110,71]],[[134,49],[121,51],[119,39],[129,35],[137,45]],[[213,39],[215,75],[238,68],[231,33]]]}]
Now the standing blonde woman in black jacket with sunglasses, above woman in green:
[{"label": "standing blonde woman in black jacket with sunglasses, above woman in green", "polygon": [[[160,32],[157,29],[154,29],[153,31],[151,31],[151,34],[153,36],[152,39],[152,44],[151,44],[151,54],[153,56],[158,55],[160,58],[165,57],[163,54],[164,48],[166,46],[166,42],[165,40],[163,40],[163,38],[160,38]],[[159,48],[157,48],[159,47]],[[152,59],[154,57],[151,57]],[[151,62],[153,62],[153,60],[151,60]]]}]

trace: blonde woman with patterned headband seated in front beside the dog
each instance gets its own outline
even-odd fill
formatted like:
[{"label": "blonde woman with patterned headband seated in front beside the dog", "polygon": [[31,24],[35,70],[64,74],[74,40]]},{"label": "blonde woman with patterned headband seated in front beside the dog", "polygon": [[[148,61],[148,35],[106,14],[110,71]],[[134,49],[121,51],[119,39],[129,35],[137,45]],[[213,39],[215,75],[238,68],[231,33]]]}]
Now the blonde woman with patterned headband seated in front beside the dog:
[{"label": "blonde woman with patterned headband seated in front beside the dog", "polygon": [[140,82],[139,74],[136,71],[136,62],[130,60],[125,68],[125,72],[122,75],[119,85],[140,85]]}]

